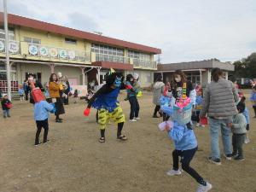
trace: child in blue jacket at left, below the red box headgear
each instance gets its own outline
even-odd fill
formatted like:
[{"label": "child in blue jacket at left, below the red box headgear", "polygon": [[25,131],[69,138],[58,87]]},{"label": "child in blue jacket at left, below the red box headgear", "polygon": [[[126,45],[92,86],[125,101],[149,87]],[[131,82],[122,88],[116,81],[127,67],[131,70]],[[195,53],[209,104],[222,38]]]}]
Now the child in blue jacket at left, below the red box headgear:
[{"label": "child in blue jacket at left, below the red box headgear", "polygon": [[54,104],[49,104],[46,101],[36,102],[34,105],[34,119],[36,120],[38,131],[36,133],[35,146],[38,146],[39,136],[42,128],[44,128],[44,143],[49,142],[47,140],[48,131],[49,131],[49,112],[55,113]]}]

